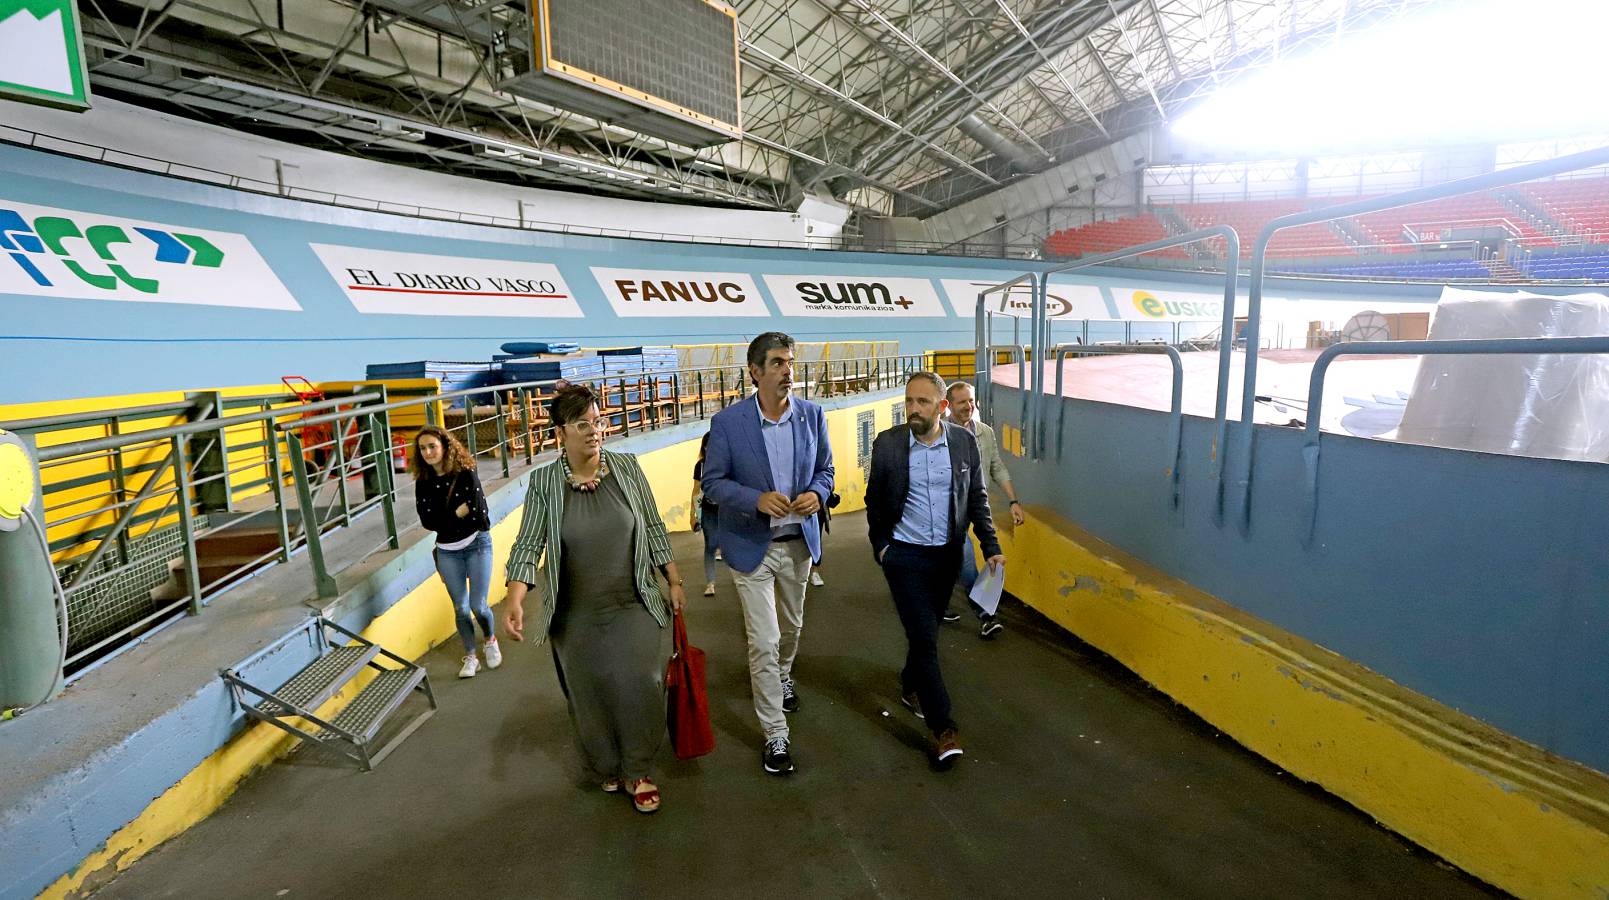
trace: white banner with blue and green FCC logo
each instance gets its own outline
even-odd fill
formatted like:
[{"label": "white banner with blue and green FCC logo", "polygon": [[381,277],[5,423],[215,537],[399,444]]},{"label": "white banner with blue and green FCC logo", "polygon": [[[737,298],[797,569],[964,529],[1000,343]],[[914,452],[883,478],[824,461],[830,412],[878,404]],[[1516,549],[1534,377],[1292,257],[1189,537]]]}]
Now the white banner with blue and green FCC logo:
[{"label": "white banner with blue and green FCC logo", "polygon": [[0,200],[0,293],[291,309],[246,235]]}]

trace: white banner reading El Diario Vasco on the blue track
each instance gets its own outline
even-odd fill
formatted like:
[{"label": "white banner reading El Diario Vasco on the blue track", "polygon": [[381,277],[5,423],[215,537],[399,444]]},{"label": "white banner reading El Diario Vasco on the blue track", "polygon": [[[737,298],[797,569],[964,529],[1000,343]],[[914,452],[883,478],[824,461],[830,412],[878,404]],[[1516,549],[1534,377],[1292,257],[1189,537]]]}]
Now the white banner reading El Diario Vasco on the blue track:
[{"label": "white banner reading El Diario Vasco on the blue track", "polygon": [[311,245],[359,312],[579,319],[581,306],[549,262],[430,256]]}]

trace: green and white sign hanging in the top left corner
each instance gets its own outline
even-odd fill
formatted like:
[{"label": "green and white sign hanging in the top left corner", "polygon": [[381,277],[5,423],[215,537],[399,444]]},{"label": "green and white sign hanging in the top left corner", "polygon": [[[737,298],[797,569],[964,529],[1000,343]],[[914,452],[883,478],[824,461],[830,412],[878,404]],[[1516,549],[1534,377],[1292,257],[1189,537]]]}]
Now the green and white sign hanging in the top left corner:
[{"label": "green and white sign hanging in the top left corner", "polygon": [[0,101],[90,108],[76,0],[0,0]]}]

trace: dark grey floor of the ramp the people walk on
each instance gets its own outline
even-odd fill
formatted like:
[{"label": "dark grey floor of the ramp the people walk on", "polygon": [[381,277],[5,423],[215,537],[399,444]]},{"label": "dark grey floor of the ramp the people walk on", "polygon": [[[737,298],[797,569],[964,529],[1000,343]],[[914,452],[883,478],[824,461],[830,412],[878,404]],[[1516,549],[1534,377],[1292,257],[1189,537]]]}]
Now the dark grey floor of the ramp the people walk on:
[{"label": "dark grey floor of the ramp the people walk on", "polygon": [[[674,536],[689,586],[700,539]],[[1009,605],[944,626],[965,758],[933,771],[898,705],[904,655],[862,515],[833,520],[792,716],[800,771],[767,776],[730,580],[689,604],[718,749],[666,750],[665,807],[581,781],[545,646],[454,678],[368,774],[319,750],[257,774],[105,887],[151,897],[1474,897],[1495,890],[1298,784],[1130,671]]]}]

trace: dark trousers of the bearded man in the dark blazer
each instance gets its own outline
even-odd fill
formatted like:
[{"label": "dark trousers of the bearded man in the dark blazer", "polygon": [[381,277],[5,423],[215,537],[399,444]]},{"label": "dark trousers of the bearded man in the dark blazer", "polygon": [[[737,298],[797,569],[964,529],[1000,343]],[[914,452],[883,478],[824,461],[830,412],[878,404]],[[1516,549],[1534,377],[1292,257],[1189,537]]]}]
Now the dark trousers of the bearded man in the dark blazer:
[{"label": "dark trousers of the bearded man in the dark blazer", "polygon": [[961,568],[956,544],[922,547],[895,541],[883,552],[883,578],[893,594],[899,625],[906,631],[906,665],[899,689],[922,702],[927,726],[938,734],[956,728],[949,718],[949,691],[938,670],[938,625],[949,605],[949,591]]}]

